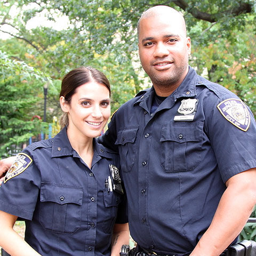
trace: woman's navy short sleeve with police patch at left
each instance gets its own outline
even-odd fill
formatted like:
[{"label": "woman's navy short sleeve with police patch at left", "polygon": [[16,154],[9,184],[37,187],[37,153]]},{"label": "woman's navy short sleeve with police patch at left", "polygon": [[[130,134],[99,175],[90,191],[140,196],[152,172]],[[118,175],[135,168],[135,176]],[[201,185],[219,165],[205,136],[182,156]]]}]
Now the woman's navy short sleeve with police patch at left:
[{"label": "woman's navy short sleeve with police patch at left", "polygon": [[17,156],[0,187],[0,210],[32,220],[40,183],[34,156],[25,149]]}]

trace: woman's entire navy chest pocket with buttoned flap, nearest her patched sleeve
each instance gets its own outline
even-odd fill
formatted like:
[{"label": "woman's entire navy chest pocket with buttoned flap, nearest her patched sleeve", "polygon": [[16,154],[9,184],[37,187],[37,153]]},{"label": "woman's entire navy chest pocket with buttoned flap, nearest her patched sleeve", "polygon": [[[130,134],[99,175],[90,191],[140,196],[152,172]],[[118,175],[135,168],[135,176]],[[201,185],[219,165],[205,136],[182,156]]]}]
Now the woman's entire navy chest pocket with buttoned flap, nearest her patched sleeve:
[{"label": "woman's entire navy chest pocket with buttoned flap, nearest her patched sleeve", "polygon": [[73,234],[81,227],[82,187],[42,182],[39,220],[57,233]]}]

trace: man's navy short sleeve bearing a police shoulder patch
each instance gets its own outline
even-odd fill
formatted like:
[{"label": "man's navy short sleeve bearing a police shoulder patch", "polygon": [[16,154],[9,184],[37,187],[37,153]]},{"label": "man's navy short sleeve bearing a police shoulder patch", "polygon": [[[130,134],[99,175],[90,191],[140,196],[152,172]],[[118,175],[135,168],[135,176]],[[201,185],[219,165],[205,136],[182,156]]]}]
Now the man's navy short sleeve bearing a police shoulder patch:
[{"label": "man's navy short sleeve bearing a police shoulder patch", "polygon": [[[250,118],[250,124],[247,129],[239,127],[238,123],[234,120],[242,118],[241,113],[234,108],[233,114],[226,109],[218,108],[221,104],[231,101],[232,99],[219,99],[215,101],[213,107],[210,105],[205,109],[210,113],[206,119],[206,130],[209,131],[209,138],[215,157],[217,159],[218,167],[221,173],[223,182],[226,182],[234,175],[256,167],[256,124],[251,110],[242,102],[247,110],[244,117]],[[233,99],[238,102],[238,98]],[[232,115],[234,115],[232,117]],[[239,116],[240,115],[240,116]],[[246,116],[247,115],[247,116]],[[231,120],[229,120],[231,118]],[[244,118],[244,119],[246,119]],[[241,121],[242,123],[242,121]],[[236,125],[237,124],[237,125]]]}]

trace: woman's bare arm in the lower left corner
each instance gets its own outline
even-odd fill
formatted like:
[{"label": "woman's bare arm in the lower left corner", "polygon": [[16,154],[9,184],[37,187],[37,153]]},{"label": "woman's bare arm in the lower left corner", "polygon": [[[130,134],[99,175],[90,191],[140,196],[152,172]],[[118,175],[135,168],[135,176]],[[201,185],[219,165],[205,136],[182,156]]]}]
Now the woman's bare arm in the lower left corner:
[{"label": "woman's bare arm in the lower left corner", "polygon": [[12,256],[39,256],[25,240],[13,230],[17,216],[0,211],[0,246]]}]

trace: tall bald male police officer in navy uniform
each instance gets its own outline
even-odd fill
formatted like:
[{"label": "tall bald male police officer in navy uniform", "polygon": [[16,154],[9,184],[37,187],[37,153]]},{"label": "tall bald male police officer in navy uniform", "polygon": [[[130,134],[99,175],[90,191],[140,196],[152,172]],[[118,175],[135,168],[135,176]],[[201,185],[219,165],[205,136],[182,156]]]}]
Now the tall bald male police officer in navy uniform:
[{"label": "tall bald male police officer in navy uniform", "polygon": [[188,66],[179,12],[147,10],[138,38],[153,87],[120,107],[101,138],[119,150],[131,235],[145,253],[220,255],[256,203],[254,117]]}]

